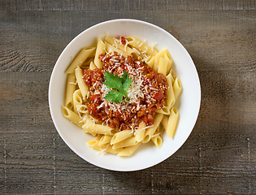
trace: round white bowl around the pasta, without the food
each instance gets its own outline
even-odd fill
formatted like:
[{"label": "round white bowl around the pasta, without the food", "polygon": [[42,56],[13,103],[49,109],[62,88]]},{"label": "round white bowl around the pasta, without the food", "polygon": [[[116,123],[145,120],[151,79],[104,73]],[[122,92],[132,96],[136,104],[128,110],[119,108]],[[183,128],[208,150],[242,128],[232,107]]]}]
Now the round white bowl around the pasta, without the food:
[{"label": "round white bowl around the pasta, without the food", "polygon": [[[67,75],[64,73],[71,58],[85,46],[96,43],[97,37],[111,36],[134,36],[149,44],[156,44],[157,50],[167,48],[173,61],[176,75],[180,77],[183,91],[180,100],[176,102],[176,107],[180,111],[180,121],[176,130],[176,136],[172,140],[163,134],[163,146],[161,149],[152,143],[141,145],[135,154],[129,158],[122,158],[113,154],[97,154],[96,150],[89,148],[85,143],[93,137],[82,131],[81,128],[65,119],[61,112],[64,103],[64,93]],[[152,167],[174,154],[189,137],[201,102],[201,89],[196,67],[192,58],[183,45],[172,37],[170,33],[140,20],[110,20],[101,24],[96,24],[91,28],[81,32],[63,50],[59,56],[52,75],[50,77],[49,104],[50,114],[63,141],[80,158],[95,166],[113,171],[137,171]]]}]

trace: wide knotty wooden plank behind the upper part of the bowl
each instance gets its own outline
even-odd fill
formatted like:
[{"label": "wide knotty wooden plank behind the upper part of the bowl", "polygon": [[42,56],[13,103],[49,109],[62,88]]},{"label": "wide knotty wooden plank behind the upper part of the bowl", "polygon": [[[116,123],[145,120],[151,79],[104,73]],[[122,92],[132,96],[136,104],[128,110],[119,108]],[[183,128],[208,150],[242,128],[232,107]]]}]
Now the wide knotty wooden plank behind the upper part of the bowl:
[{"label": "wide knotty wooden plank behind the upper part of the bowl", "polygon": [[93,24],[122,17],[166,29],[189,51],[198,71],[246,72],[256,67],[255,11],[0,11],[0,15],[5,27],[0,37],[4,72],[51,72],[72,38]]}]

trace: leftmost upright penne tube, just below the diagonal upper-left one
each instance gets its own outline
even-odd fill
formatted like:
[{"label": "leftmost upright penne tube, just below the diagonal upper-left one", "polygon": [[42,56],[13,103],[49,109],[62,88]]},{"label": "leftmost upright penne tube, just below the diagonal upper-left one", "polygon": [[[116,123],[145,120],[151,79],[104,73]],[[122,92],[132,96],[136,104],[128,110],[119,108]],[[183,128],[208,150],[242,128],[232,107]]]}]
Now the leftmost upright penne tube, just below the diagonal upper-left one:
[{"label": "leftmost upright penne tube, just below the diagonal upper-left one", "polygon": [[76,77],[75,74],[67,75],[67,87],[66,87],[66,97],[65,97],[65,106],[72,109],[73,107],[73,93],[76,90]]}]

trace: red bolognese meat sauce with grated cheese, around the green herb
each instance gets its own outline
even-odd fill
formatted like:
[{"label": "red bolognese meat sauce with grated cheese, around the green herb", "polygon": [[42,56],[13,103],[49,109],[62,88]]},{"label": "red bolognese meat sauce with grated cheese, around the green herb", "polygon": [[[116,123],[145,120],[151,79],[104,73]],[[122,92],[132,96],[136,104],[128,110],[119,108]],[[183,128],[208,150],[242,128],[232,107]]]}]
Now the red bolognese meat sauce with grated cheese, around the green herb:
[{"label": "red bolognese meat sauce with grated cheese, around the green herb", "polygon": [[[94,119],[119,131],[136,129],[141,121],[147,126],[154,124],[155,110],[165,105],[168,89],[166,77],[157,73],[145,62],[134,56],[124,57],[116,52],[98,56],[102,69],[85,69],[84,80],[89,86],[89,102],[85,105]],[[128,98],[121,102],[111,102],[105,99],[111,91],[104,82],[104,72],[122,77],[124,71],[132,78],[128,87]]]}]

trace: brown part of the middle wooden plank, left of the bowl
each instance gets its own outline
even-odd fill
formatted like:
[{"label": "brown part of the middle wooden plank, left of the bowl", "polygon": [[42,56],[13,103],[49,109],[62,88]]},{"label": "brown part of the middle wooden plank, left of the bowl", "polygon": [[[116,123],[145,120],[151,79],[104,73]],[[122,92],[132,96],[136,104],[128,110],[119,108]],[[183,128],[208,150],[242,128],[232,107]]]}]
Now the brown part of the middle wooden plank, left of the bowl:
[{"label": "brown part of the middle wooden plank, left of the bowl", "polygon": [[0,76],[0,123],[5,124],[0,129],[14,133],[24,128],[37,133],[37,128],[46,128],[52,132],[48,130],[53,126],[47,103],[50,72],[1,72]]}]

